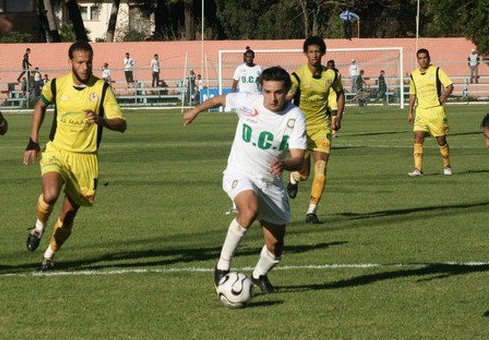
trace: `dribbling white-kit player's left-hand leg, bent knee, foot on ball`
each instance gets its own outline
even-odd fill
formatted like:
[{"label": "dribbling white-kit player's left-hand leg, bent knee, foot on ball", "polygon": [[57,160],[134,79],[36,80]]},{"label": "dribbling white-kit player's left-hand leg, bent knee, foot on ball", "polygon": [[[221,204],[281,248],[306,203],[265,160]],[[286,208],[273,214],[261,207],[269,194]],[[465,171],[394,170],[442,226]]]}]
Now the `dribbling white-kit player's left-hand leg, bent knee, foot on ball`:
[{"label": "dribbling white-kit player's left-hand leg, bent knee, foot on ball", "polygon": [[[244,182],[244,180],[239,182]],[[249,187],[245,183],[242,183],[242,185]],[[226,183],[224,183],[224,186],[226,186]],[[228,191],[228,194],[231,197],[234,196],[232,192]],[[258,197],[251,189],[240,191],[234,197],[234,202],[237,206],[238,215],[229,224],[226,238],[222,245],[221,254],[214,272],[214,284],[216,286],[221,281],[221,278],[229,273],[234,252],[258,214]]]}]

